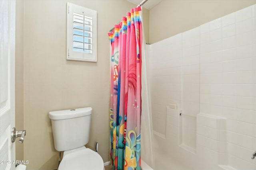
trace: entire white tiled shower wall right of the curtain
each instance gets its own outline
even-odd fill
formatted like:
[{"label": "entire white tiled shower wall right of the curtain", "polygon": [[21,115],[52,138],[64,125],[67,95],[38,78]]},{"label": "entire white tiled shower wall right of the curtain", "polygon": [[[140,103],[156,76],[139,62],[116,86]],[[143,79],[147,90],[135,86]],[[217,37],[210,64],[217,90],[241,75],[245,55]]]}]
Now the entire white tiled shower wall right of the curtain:
[{"label": "entire white tiled shower wall right of the curtain", "polygon": [[[185,145],[221,152],[219,164],[256,169],[256,5],[150,45],[149,63],[156,133],[168,139],[166,106],[177,104]],[[198,124],[198,113],[223,117],[218,132],[226,139],[201,143],[198,132],[211,131]]]}]

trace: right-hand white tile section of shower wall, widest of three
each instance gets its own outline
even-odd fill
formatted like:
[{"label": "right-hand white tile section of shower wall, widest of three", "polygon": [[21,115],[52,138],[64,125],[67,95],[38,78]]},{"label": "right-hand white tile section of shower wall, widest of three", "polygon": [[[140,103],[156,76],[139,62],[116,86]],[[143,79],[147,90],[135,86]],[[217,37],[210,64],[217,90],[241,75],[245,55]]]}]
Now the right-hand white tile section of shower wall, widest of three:
[{"label": "right-hand white tile section of shower wall, widest of three", "polygon": [[[212,21],[210,25],[215,23],[216,21]],[[255,139],[253,136],[255,120],[252,122],[252,118],[254,114],[253,102],[256,97],[253,71],[255,69],[256,46],[252,40],[255,36],[253,24],[252,6],[222,17],[220,26],[222,49],[213,48],[222,53],[221,62],[211,63],[209,60],[208,64],[204,60],[203,63],[200,63],[200,68],[209,66],[209,70],[201,70],[203,73],[201,80],[208,81],[200,82],[200,88],[202,88],[200,90],[200,97],[202,97],[200,98],[200,112],[227,118],[228,164],[237,169],[241,167],[241,164],[249,165],[244,167],[256,164],[250,158]],[[200,26],[200,33],[203,36],[207,33],[204,25]],[[209,39],[209,41],[211,40],[216,41],[217,39]],[[206,43],[208,42],[201,41],[200,47],[204,47]],[[209,56],[211,52],[211,49],[208,51],[201,49],[200,57]],[[212,72],[214,74],[211,74]],[[220,109],[220,113],[211,112],[213,108]],[[233,164],[232,159],[239,160],[237,162],[240,164],[237,164],[236,161]],[[256,169],[256,166],[253,169]]]}]

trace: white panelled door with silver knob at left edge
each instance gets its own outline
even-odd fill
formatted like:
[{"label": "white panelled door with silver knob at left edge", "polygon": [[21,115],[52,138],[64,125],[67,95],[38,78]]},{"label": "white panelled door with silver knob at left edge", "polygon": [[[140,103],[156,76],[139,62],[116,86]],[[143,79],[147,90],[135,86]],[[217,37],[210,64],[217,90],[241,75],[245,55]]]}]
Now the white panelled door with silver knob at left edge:
[{"label": "white panelled door with silver knob at left edge", "polygon": [[15,169],[15,4],[0,0],[0,170]]}]

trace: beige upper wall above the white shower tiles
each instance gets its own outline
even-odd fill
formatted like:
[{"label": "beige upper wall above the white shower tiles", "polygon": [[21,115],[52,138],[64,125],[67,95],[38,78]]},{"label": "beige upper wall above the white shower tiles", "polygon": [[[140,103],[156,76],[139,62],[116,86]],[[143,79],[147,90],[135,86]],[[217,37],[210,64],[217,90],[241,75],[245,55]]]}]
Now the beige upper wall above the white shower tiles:
[{"label": "beige upper wall above the white shower tiles", "polygon": [[163,0],[150,10],[150,44],[215,20],[256,0]]}]

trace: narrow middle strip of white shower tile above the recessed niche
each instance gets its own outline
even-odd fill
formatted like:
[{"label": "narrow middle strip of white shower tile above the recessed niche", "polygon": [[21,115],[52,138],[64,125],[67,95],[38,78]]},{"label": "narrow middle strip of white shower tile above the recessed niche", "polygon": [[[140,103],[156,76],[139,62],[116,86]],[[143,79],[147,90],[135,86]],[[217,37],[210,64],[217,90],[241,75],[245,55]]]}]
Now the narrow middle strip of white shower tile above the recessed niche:
[{"label": "narrow middle strip of white shower tile above the recessed niche", "polygon": [[[182,33],[182,110],[183,114],[196,116],[199,113],[200,91],[200,29]],[[187,119],[184,117],[184,119]],[[186,121],[186,120],[184,120]],[[187,129],[187,128],[184,128]],[[189,131],[189,129],[187,129]],[[189,133],[193,133],[192,131]],[[188,134],[189,134],[188,133]],[[186,139],[186,138],[184,138]],[[195,141],[188,138],[188,141]],[[185,142],[186,143],[186,142]],[[196,145],[194,145],[196,147]]]}]

